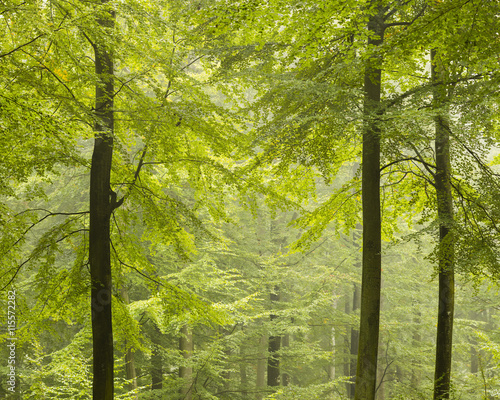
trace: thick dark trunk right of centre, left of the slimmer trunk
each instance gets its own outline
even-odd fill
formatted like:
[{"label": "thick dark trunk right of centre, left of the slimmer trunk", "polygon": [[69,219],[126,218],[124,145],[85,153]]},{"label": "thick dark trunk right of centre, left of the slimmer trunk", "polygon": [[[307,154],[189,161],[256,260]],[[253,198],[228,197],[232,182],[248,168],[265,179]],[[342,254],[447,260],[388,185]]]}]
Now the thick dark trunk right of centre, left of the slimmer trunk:
[{"label": "thick dark trunk right of centre, left of the slimmer trunk", "polygon": [[[384,36],[382,12],[370,16],[368,39],[370,48],[382,44]],[[372,36],[373,35],[373,36]],[[364,118],[362,201],[363,201],[363,272],[359,352],[356,368],[356,400],[374,400],[377,376],[377,354],[380,324],[381,216],[380,216],[380,114],[381,62],[371,55],[364,77]]]}]

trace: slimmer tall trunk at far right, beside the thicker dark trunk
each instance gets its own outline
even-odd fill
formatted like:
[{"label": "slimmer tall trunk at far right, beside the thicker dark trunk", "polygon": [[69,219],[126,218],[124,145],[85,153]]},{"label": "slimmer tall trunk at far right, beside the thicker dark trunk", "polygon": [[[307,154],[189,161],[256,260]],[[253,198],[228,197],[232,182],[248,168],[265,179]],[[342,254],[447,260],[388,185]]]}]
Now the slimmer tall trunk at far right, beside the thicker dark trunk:
[{"label": "slimmer tall trunk at far right, beside the thicker dark trunk", "polygon": [[[440,85],[443,71],[439,66],[436,51],[431,51],[431,75],[434,83],[434,101],[437,107],[444,106],[446,88]],[[453,197],[450,182],[450,137],[447,116],[440,112],[435,117],[436,152],[436,196],[439,221],[439,305],[436,339],[436,365],[434,373],[434,400],[450,398],[451,355],[454,313],[454,240]]]}]

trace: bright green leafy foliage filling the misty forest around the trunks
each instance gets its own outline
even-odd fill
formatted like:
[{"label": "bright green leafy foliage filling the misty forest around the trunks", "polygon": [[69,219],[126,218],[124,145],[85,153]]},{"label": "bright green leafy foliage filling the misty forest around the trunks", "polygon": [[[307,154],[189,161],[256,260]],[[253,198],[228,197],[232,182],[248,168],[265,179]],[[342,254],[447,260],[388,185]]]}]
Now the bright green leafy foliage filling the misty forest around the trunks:
[{"label": "bright green leafy foliage filling the misty forest around the trunks", "polygon": [[[87,210],[98,37],[115,59],[111,189],[123,198],[111,219],[116,398],[134,398],[128,349],[139,398],[181,398],[190,382],[177,377],[180,367],[193,368],[196,399],[346,398],[358,325],[348,299],[360,280],[362,76],[375,51],[362,27],[376,3],[127,0],[110,3],[113,32],[96,21],[107,6],[2,3],[0,284],[19,293],[23,398],[91,396]],[[432,391],[432,125],[446,109],[457,271],[466,277],[457,291],[455,397],[498,396],[498,304],[486,288],[500,271],[498,171],[489,165],[500,139],[498,4],[381,3],[396,8],[377,50],[379,390],[394,399]],[[453,94],[439,106],[430,48]],[[476,301],[480,317],[468,314]],[[5,298],[0,305],[7,309]],[[187,358],[178,348],[185,327],[195,342]],[[291,384],[275,392],[256,385],[269,335],[288,338],[278,354]],[[471,347],[482,363],[476,373]],[[156,350],[161,390],[151,390]]]}]

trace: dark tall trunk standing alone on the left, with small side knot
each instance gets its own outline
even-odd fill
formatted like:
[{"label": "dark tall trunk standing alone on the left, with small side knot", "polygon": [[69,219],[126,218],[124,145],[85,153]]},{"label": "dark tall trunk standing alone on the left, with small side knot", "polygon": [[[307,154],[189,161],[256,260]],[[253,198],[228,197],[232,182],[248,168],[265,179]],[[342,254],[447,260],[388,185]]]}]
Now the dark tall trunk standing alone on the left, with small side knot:
[{"label": "dark tall trunk standing alone on the left, with small side knot", "polygon": [[[104,0],[103,4],[107,2]],[[114,13],[98,20],[111,30]],[[113,326],[111,320],[110,201],[111,161],[113,156],[113,59],[106,40],[94,46],[97,85],[95,94],[95,141],[90,167],[89,263],[92,282],[93,398],[113,398]],[[116,199],[116,198],[115,198]]]}]

